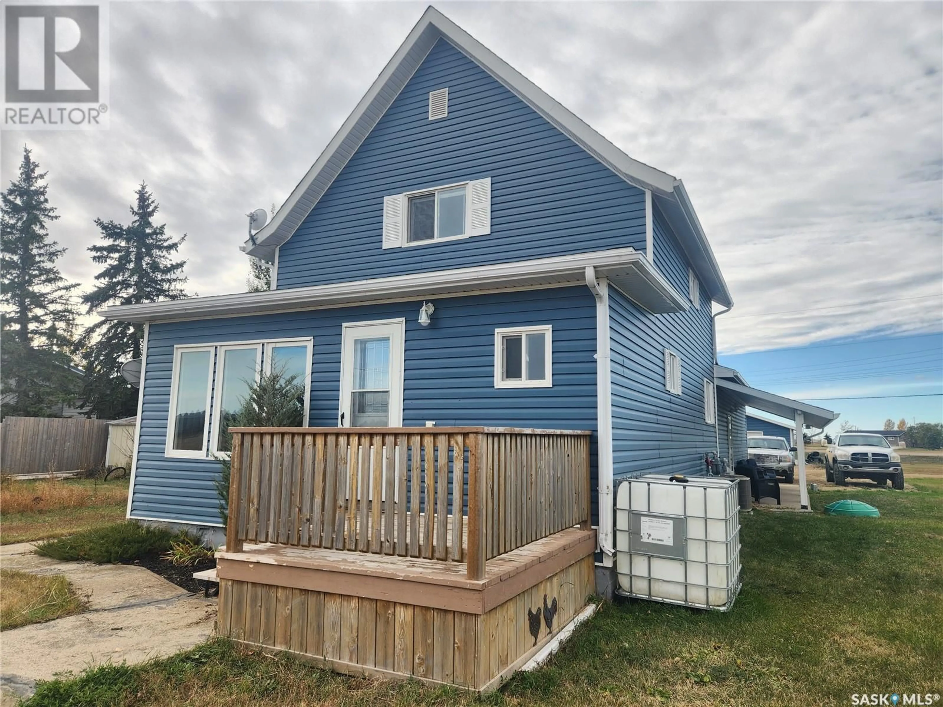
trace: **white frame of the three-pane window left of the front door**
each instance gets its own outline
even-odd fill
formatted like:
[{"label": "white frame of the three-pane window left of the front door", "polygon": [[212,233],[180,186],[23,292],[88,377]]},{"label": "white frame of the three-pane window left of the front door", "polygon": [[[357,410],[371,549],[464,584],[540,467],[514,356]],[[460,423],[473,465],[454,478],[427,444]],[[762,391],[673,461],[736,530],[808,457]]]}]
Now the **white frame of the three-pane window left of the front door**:
[{"label": "white frame of the three-pane window left of the front door", "polygon": [[[217,425],[219,424],[219,410],[217,409],[219,408],[219,405],[214,405],[213,403],[219,401],[219,391],[217,388],[221,385],[221,383],[216,374],[218,363],[221,360],[221,350],[247,349],[252,346],[257,346],[260,351],[258,354],[260,357],[263,347],[292,344],[296,346],[304,345],[307,347],[307,372],[305,376],[305,417],[302,420],[302,427],[308,427],[311,404],[311,373],[313,366],[311,357],[314,349],[313,337],[266,338],[244,341],[214,341],[206,344],[175,344],[174,368],[171,372],[171,399],[170,407],[167,412],[167,438],[164,440],[164,456],[171,459],[211,459],[212,457],[209,456],[210,453],[223,457],[228,454],[228,452],[217,452],[215,441],[211,441],[210,439],[210,434],[217,429]],[[203,424],[203,449],[199,452],[196,450],[174,450],[174,428],[176,426],[176,416],[174,415],[174,410],[176,409],[177,379],[180,373],[180,354],[185,351],[208,351],[210,353],[209,370],[207,374],[209,378],[209,385],[207,386],[207,420]],[[267,371],[271,370],[270,361],[271,357],[266,355],[263,365]]]}]

